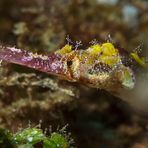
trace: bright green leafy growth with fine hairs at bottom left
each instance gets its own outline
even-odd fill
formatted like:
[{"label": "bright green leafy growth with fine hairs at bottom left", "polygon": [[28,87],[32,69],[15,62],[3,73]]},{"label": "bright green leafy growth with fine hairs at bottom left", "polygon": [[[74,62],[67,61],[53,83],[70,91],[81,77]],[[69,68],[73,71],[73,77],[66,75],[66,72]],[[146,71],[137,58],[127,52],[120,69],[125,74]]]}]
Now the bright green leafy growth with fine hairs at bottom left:
[{"label": "bright green leafy growth with fine hairs at bottom left", "polygon": [[[3,147],[27,147],[33,148],[35,145],[44,148],[73,148],[73,139],[70,133],[65,130],[66,126],[58,129],[56,132],[45,129],[44,131],[38,126],[19,129],[15,134],[8,130],[0,129],[0,145]],[[47,135],[47,131],[50,135]]]}]

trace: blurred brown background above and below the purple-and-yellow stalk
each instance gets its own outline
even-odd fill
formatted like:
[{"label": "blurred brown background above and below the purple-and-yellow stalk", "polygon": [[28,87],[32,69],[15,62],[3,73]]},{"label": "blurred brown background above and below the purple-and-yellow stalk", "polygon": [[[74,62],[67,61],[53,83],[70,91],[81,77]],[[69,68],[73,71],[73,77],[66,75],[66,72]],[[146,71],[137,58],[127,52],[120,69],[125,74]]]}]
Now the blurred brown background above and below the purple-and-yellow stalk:
[{"label": "blurred brown background above and below the purple-and-yellow stalk", "polygon": [[[148,56],[147,0],[1,0],[0,42],[49,53],[69,38],[111,40]],[[147,90],[145,90],[147,91]],[[148,115],[148,114],[147,114]],[[109,93],[68,83],[23,66],[0,67],[0,127],[17,131],[30,121],[53,129],[68,124],[78,148],[147,148],[148,116]]]}]

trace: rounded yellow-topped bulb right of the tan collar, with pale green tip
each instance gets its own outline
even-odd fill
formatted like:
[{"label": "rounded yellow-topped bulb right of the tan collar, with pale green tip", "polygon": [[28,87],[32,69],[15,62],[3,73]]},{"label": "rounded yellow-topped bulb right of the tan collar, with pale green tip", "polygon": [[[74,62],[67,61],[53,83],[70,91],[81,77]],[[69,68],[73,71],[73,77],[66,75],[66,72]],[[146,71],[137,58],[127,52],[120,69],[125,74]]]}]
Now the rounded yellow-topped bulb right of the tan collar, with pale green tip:
[{"label": "rounded yellow-topped bulb right of the tan collar, with pale green tip", "polygon": [[81,81],[91,87],[118,92],[118,89],[132,89],[135,85],[132,68],[124,64],[112,43],[89,47],[80,60]]}]

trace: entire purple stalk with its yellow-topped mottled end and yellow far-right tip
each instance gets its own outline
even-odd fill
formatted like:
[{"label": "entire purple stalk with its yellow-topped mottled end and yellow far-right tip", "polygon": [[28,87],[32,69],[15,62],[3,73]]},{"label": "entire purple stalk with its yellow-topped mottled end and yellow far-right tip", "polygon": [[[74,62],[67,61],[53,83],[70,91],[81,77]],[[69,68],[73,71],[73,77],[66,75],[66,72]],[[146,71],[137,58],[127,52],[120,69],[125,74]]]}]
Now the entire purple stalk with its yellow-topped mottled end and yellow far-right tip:
[{"label": "entire purple stalk with its yellow-topped mottled end and yellow far-right tip", "polygon": [[118,49],[110,42],[94,44],[85,50],[73,49],[72,45],[66,44],[49,55],[14,47],[1,47],[0,60],[110,92],[134,87],[135,76],[131,67],[133,61],[148,67],[145,58],[140,58],[137,53]]}]

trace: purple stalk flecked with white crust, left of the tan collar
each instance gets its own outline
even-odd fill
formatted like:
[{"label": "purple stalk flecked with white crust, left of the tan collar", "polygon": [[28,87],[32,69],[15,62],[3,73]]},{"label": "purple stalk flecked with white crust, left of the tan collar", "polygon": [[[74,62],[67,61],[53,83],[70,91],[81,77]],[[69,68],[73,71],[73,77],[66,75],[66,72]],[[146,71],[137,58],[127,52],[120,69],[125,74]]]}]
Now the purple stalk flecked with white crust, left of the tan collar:
[{"label": "purple stalk flecked with white crust, left of the tan collar", "polygon": [[61,55],[51,53],[47,55],[34,54],[32,52],[14,47],[0,48],[0,60],[30,67],[53,75],[66,76],[67,70]]}]

